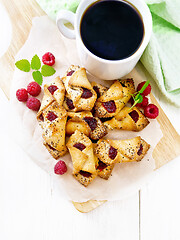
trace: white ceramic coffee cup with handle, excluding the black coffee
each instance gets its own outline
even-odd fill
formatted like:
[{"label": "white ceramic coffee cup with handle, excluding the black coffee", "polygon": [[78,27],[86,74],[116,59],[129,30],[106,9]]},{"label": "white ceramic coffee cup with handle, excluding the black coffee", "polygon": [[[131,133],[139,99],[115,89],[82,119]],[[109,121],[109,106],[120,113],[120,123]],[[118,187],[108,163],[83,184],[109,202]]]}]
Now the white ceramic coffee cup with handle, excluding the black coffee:
[{"label": "white ceramic coffee cup with handle, excluding the black coffee", "polygon": [[[131,3],[142,16],[144,24],[144,37],[142,43],[135,53],[125,59],[106,60],[91,53],[84,45],[80,35],[80,23],[83,13],[92,3],[96,1],[97,0],[82,0],[75,14],[67,10],[59,11],[57,14],[56,23],[60,32],[65,37],[76,39],[76,45],[81,64],[91,74],[105,80],[118,79],[132,71],[144,52],[152,32],[151,13],[144,0],[128,0],[128,2]],[[65,22],[70,22],[74,26],[74,30],[66,27],[64,25]]]}]

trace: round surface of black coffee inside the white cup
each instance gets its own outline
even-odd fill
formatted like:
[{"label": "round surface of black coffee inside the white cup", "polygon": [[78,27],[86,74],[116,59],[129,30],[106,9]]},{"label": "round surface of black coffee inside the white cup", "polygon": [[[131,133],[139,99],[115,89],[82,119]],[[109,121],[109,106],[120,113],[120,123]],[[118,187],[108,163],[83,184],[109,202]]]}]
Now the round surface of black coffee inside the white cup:
[{"label": "round surface of black coffee inside the white cup", "polygon": [[80,25],[90,52],[108,60],[131,56],[140,46],[144,26],[138,11],[125,1],[98,1],[85,11]]}]

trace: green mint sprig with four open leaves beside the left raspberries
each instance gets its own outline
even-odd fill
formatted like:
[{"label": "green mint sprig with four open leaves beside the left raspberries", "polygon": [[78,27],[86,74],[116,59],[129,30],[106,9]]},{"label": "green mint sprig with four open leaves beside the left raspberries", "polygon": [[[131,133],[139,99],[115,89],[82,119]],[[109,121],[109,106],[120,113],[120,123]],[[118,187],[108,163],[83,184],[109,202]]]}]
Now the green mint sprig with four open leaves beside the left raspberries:
[{"label": "green mint sprig with four open leaves beside the left raspberries", "polygon": [[56,72],[56,70],[51,66],[42,65],[41,67],[41,61],[37,54],[32,57],[31,63],[27,59],[21,59],[17,61],[15,65],[19,70],[24,72],[30,72],[32,69],[32,77],[39,85],[42,85],[43,76],[49,77]]}]

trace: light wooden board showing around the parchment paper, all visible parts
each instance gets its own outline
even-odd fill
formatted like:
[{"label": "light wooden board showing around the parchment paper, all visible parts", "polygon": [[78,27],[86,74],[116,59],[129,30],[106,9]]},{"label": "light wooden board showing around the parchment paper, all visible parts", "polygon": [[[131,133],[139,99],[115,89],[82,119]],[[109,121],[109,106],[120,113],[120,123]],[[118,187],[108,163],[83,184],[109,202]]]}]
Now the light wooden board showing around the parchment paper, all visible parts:
[{"label": "light wooden board showing around the parchment paper, all visible parts", "polygon": [[[35,0],[0,0],[5,6],[11,19],[13,35],[10,47],[6,54],[0,59],[1,80],[0,87],[3,89],[7,98],[9,98],[11,80],[14,71],[14,56],[25,43],[32,25],[32,18],[45,15],[43,10]],[[143,80],[143,79],[142,79]],[[152,102],[160,109],[158,121],[164,137],[156,146],[153,157],[156,162],[156,168],[160,168],[167,162],[180,155],[180,136],[173,128],[169,119],[151,94]],[[152,136],[153,137],[153,136]],[[73,202],[76,209],[80,212],[89,212],[100,206],[106,201],[91,200],[85,203]]]}]

